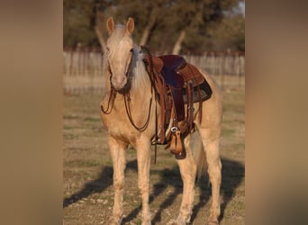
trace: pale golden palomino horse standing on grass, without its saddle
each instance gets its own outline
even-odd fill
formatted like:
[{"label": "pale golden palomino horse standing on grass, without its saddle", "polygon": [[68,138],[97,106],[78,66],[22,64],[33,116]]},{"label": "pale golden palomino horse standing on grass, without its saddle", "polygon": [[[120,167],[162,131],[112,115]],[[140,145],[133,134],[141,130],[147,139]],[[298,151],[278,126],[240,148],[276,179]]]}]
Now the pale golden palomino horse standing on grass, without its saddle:
[{"label": "pale golden palomino horse standing on grass, without its saddle", "polygon": [[[142,198],[142,224],[151,224],[149,211],[149,167],[151,143],[156,135],[159,103],[153,95],[155,89],[142,58],[144,54],[133,44],[131,32],[134,21],[129,18],[126,25],[114,25],[113,18],[107,20],[109,38],[107,40],[106,88],[107,92],[101,103],[102,121],[108,130],[108,146],[113,159],[113,213],[108,224],[121,224],[123,212],[125,151],[129,145],[137,149],[138,187]],[[200,71],[201,72],[201,71]],[[219,139],[222,122],[222,95],[208,74],[201,72],[213,94],[203,102],[202,121],[196,119],[195,131],[184,139],[186,157],[177,159],[183,180],[183,198],[177,219],[172,224],[189,222],[194,206],[195,177],[197,172],[207,172],[212,184],[212,206],[208,224],[219,224],[220,186],[222,163],[220,159]],[[129,94],[129,99],[127,95]],[[152,101],[155,99],[154,101]],[[127,104],[129,109],[127,111]],[[198,107],[195,103],[196,108]],[[157,107],[157,108],[156,108]],[[160,117],[159,117],[160,118]],[[159,120],[158,120],[159,121]],[[136,127],[143,128],[137,130]]]}]

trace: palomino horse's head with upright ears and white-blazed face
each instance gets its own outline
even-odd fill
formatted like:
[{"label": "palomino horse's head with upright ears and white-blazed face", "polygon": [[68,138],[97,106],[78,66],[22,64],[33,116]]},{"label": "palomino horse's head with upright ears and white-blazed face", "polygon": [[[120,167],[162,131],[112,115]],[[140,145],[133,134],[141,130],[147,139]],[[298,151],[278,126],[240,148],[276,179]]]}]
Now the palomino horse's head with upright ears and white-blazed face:
[{"label": "palomino horse's head with upright ears and white-blazed face", "polygon": [[130,17],[126,25],[114,25],[113,17],[107,20],[107,60],[110,80],[115,90],[121,90],[127,83],[131,73],[133,57],[133,40],[131,32],[134,21]]}]

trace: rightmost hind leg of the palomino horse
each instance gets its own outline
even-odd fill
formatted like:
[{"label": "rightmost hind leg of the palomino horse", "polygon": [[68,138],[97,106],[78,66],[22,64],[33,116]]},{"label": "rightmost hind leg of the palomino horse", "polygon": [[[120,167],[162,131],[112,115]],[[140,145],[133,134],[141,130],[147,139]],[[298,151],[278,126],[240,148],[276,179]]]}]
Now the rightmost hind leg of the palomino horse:
[{"label": "rightmost hind leg of the palomino horse", "polygon": [[[208,224],[218,225],[218,218],[221,214],[220,188],[222,183],[222,162],[219,150],[220,135],[218,130],[212,129],[199,128],[199,133],[204,144],[208,166],[207,172],[212,184],[212,205]],[[215,133],[217,133],[217,135]]]}]

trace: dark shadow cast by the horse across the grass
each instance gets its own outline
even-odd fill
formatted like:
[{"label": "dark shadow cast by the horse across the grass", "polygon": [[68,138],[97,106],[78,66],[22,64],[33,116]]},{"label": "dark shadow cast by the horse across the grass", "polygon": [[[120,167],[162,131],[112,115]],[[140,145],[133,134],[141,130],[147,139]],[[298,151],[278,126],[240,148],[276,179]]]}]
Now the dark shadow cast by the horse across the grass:
[{"label": "dark shadow cast by the horse across the grass", "polygon": [[[126,168],[133,170],[137,173],[137,160],[131,160],[127,163]],[[161,180],[159,183],[153,185],[152,193],[149,196],[149,203],[153,202],[155,197],[166,191],[169,186],[173,186],[173,192],[168,193],[167,198],[159,204],[158,211],[154,214],[152,223],[156,224],[161,221],[162,212],[175,202],[177,195],[183,191],[183,184],[180,176],[178,166],[172,168],[166,168],[159,170]],[[231,198],[235,192],[235,189],[240,185],[245,175],[245,167],[237,161],[232,161],[227,158],[222,158],[222,186],[221,193],[223,193],[221,216],[219,220],[223,219],[223,212],[231,201]],[[63,208],[68,205],[78,202],[79,200],[86,198],[92,193],[101,193],[106,188],[113,184],[113,167],[104,166],[101,174],[93,181],[90,181],[84,185],[84,187],[77,193],[73,193],[63,201]],[[211,186],[206,175],[202,176],[200,181],[196,183],[196,186],[200,187],[201,194],[199,200],[196,202],[193,214],[191,216],[191,223],[194,222],[198,212],[204,207],[204,205],[210,200]],[[126,217],[123,218],[122,224],[127,224],[131,220],[134,220],[141,211],[141,204],[131,211]]]}]

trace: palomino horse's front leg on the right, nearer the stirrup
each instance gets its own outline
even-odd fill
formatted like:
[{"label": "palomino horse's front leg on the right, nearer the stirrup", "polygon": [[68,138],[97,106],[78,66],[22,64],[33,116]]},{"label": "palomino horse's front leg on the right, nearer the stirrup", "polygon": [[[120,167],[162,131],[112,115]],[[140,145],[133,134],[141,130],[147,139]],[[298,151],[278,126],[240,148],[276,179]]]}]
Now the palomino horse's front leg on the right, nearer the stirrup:
[{"label": "palomino horse's front leg on the right, nearer the stirrup", "polygon": [[138,187],[142,198],[142,225],[150,224],[149,211],[149,166],[150,140],[137,140]]}]

